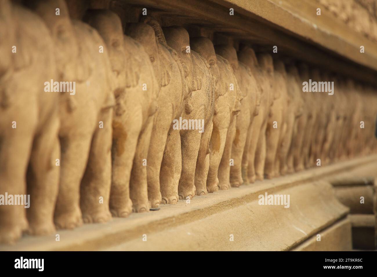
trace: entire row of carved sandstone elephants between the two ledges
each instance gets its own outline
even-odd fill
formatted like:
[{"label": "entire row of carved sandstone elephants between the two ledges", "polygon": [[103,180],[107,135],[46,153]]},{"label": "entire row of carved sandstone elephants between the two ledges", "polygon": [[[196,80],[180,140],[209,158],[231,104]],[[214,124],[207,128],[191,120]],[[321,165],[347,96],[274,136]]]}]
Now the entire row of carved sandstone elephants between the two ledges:
[{"label": "entire row of carved sandstone elephants between the two ledges", "polygon": [[[31,203],[0,207],[0,243],[376,150],[372,87],[142,18],[123,29],[110,10],[73,20],[63,0],[0,2],[0,194]],[[309,79],[334,95],[302,92]]]}]

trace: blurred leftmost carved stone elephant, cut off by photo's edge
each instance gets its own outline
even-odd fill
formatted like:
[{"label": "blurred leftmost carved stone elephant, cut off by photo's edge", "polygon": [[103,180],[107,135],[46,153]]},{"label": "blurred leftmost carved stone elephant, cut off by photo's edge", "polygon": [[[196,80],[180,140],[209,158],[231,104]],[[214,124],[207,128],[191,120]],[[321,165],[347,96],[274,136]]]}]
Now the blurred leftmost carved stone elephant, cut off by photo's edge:
[{"label": "blurred leftmost carved stone elephant, cut off by photo's edge", "polygon": [[25,230],[55,231],[59,93],[44,88],[57,75],[51,36],[41,18],[1,1],[0,34],[0,194],[11,196],[1,201],[0,243],[14,243]]}]

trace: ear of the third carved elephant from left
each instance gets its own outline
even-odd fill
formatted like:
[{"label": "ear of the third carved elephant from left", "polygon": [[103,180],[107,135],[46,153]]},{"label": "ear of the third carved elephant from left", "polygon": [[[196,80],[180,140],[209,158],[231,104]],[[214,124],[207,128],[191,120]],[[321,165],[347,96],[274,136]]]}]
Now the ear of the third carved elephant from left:
[{"label": "ear of the third carved elephant from left", "polygon": [[144,51],[144,49],[127,36],[124,36],[124,48],[126,49],[126,87],[136,87],[139,83],[142,63],[138,53],[139,51]]}]

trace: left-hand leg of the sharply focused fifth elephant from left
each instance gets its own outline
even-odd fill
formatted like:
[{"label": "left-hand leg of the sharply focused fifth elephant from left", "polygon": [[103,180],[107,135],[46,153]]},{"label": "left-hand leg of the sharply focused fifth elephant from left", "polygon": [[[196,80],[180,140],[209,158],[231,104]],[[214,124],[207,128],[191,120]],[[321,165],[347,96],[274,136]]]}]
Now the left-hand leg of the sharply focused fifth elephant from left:
[{"label": "left-hand leg of the sharply focused fifth elephant from left", "polygon": [[182,172],[178,185],[179,199],[191,199],[195,196],[195,168],[201,135],[198,130],[181,132]]}]

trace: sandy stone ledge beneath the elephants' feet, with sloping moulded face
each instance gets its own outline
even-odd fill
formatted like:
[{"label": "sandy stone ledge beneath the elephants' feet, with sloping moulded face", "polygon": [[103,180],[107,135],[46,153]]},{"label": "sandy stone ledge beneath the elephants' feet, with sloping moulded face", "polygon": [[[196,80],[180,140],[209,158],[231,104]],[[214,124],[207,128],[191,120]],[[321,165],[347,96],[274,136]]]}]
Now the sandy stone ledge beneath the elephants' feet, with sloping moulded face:
[{"label": "sandy stone ledge beneath the elephants' feet, with sloping moulded face", "polygon": [[[0,251],[18,250],[289,250],[348,213],[326,180],[377,163],[377,155],[195,196],[190,204],[58,230],[55,236],[25,236]],[[291,207],[258,205],[258,195],[290,194]],[[310,205],[308,205],[310,203]],[[187,234],[190,233],[190,234]],[[147,241],[142,241],[147,234]],[[234,234],[234,243],[228,244]],[[236,239],[237,238],[237,239]],[[238,242],[237,242],[238,240]],[[143,243],[143,244],[142,244]]]}]

